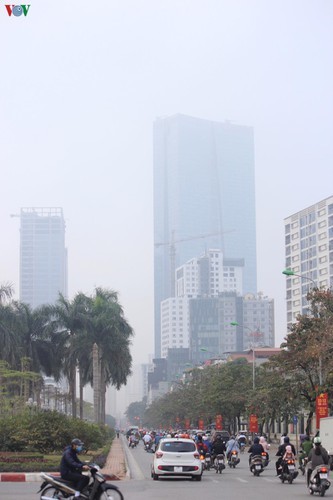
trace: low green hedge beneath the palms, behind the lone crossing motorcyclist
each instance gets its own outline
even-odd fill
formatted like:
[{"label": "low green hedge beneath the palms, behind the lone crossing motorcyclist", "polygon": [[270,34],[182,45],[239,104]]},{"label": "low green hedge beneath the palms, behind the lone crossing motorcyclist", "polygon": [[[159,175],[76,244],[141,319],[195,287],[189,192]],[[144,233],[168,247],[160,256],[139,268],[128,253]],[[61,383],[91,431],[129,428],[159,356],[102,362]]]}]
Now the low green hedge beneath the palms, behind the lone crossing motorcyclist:
[{"label": "low green hedge beneath the palms, behind the lone crossing motorcyclist", "polygon": [[0,418],[0,454],[5,451],[61,452],[75,437],[84,442],[87,450],[97,450],[111,442],[112,432],[108,427],[56,411],[27,410]]}]

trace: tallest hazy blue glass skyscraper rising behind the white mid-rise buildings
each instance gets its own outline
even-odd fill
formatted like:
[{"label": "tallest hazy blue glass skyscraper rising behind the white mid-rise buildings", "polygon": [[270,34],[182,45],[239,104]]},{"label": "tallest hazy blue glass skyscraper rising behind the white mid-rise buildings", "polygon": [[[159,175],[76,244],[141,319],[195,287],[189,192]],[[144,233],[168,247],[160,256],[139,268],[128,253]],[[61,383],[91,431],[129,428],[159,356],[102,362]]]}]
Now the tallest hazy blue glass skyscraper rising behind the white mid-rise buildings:
[{"label": "tallest hazy blue glass skyscraper rising behind the white mid-rise buildings", "polygon": [[[243,291],[257,292],[251,127],[174,115],[154,124],[155,356],[160,305],[174,271],[207,248],[244,259]],[[214,279],[214,276],[211,276]]]}]

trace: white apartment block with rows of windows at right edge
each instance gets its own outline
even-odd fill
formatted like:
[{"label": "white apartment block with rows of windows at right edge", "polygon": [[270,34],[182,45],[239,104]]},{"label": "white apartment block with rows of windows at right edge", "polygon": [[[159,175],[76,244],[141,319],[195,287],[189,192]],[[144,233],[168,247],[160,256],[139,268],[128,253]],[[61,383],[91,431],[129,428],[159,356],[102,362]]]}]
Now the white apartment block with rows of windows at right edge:
[{"label": "white apartment block with rows of windows at right edge", "polygon": [[307,293],[333,285],[333,196],[284,219],[287,326],[309,312]]}]

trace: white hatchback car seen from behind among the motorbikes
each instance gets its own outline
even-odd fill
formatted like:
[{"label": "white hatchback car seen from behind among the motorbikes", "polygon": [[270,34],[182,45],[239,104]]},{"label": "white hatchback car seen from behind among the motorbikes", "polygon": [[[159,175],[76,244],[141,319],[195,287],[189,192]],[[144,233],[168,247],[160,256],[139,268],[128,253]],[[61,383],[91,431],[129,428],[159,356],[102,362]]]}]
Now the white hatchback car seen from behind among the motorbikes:
[{"label": "white hatchback car seen from behind among the motorbikes", "polygon": [[191,476],[201,481],[202,463],[192,439],[163,438],[158,443],[151,468],[151,477]]}]

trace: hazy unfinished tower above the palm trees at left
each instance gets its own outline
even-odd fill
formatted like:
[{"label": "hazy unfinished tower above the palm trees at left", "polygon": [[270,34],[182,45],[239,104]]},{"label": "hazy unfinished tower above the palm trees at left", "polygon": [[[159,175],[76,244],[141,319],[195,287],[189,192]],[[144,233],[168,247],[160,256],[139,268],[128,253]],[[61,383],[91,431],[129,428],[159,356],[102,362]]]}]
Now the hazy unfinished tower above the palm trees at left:
[{"label": "hazy unfinished tower above the palm trees at left", "polygon": [[20,300],[35,308],[67,295],[65,220],[61,208],[22,208]]}]

